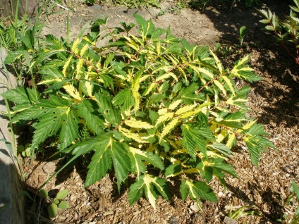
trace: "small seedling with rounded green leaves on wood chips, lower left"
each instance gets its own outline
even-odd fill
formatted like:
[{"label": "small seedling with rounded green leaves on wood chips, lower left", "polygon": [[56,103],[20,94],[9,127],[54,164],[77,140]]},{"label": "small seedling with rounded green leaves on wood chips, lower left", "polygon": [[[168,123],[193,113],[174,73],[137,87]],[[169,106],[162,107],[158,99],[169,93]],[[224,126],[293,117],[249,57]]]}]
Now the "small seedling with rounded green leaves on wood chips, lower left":
[{"label": "small seedling with rounded green leaves on wood chips, lower left", "polygon": [[47,211],[50,218],[54,218],[58,214],[58,209],[68,209],[69,205],[67,201],[63,201],[68,196],[68,189],[63,189],[56,194],[54,199],[49,197],[47,190],[41,189],[39,191],[39,196],[43,199],[50,201]]}]

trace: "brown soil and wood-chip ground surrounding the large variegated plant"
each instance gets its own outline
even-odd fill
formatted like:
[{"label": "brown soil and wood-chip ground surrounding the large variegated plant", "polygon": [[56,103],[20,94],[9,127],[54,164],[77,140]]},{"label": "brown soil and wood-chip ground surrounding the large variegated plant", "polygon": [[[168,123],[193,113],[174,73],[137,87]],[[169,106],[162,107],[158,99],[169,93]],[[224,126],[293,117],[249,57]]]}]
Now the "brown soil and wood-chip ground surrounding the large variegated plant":
[{"label": "brown soil and wood-chip ground surrounding the large variegated plant", "polygon": [[[245,54],[251,54],[250,66],[263,80],[246,84],[252,87],[248,102],[252,111],[249,115],[264,125],[277,150],[264,152],[260,166],[255,167],[245,148],[236,149],[231,164],[240,179],[228,176],[226,189],[213,179],[210,185],[218,194],[219,202],[202,201],[201,209],[190,199],[182,201],[176,188],[171,189],[171,202],[159,197],[155,211],[145,198],[129,206],[128,187],[123,185],[118,193],[112,172],[100,182],[84,188],[87,170],[84,164],[78,163],[44,187],[51,192],[68,189],[66,200],[70,208],[59,211],[59,216],[49,220],[44,201],[40,200],[38,206],[32,208],[28,200],[28,223],[233,223],[225,217],[230,209],[236,211],[242,206],[252,206],[252,211],[259,212],[260,216],[240,217],[237,223],[278,223],[284,213],[289,218],[294,215],[298,201],[294,201],[294,206],[288,206],[285,201],[290,194],[291,182],[299,180],[298,66],[271,35],[262,31],[261,17],[253,7],[231,8],[231,4],[219,4],[205,8],[203,12],[185,8],[178,15],[169,12],[171,7],[175,7],[173,1],[165,1],[161,9],[166,13],[157,16],[161,11],[159,8],[127,9],[109,4],[91,7],[78,4],[70,13],[71,32],[74,31],[75,35],[87,20],[106,15],[110,16],[111,27],[121,21],[133,22],[133,13],[138,13],[146,19],[152,18],[157,27],[171,26],[173,35],[188,42],[207,44],[212,49],[216,42],[224,48],[228,46],[227,53],[219,52],[226,66],[232,66]],[[270,7],[278,15],[289,13],[288,4],[283,1],[271,1],[262,7]],[[51,15],[44,34],[65,35],[66,15]],[[248,34],[243,47],[238,47],[235,46],[239,44],[238,30],[243,25],[248,28]],[[35,192],[63,164],[61,160],[49,161],[46,155],[38,154],[32,163],[28,158],[23,160],[23,172],[28,173],[25,185],[30,192]]]}]

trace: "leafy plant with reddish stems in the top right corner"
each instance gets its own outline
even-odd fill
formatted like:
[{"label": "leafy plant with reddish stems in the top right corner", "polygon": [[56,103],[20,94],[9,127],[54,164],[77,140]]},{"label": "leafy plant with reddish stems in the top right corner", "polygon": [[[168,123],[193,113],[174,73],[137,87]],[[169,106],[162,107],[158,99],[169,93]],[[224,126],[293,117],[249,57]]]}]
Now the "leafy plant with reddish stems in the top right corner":
[{"label": "leafy plant with reddish stems in the top right corner", "polygon": [[[294,58],[295,62],[299,65],[299,0],[293,0],[295,6],[290,6],[290,15],[286,16],[285,20],[279,19],[275,13],[272,13],[269,8],[267,11],[264,9],[258,10],[262,15],[264,15],[261,23],[267,24],[266,30],[274,32],[276,40],[281,43],[283,48],[288,52],[288,54]],[[291,52],[290,49],[285,45],[286,42],[292,42],[295,46],[295,52]]]}]

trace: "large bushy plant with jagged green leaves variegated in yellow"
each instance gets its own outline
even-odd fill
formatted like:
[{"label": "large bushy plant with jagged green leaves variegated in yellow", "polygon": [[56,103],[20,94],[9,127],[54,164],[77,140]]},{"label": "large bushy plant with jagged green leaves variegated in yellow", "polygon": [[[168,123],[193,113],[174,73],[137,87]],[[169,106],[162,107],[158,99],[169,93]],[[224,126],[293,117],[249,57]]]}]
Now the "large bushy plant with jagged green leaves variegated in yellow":
[{"label": "large bushy plant with jagged green leaves variegated in yellow", "polygon": [[85,187],[114,168],[118,189],[128,175],[135,177],[130,204],[144,193],[154,208],[158,194],[169,200],[169,180],[177,176],[182,199],[217,201],[209,182],[237,178],[229,158],[238,140],[255,166],[262,151],[274,148],[262,125],[246,116],[250,87],[236,87],[238,79],[261,78],[247,65],[250,56],[224,68],[209,47],[134,17],[138,35],[133,23],[111,28],[107,18],[70,44],[47,35],[30,63],[46,90],[4,93],[16,104],[12,122],[31,121],[32,151],[50,138],[71,161],[92,155]]}]

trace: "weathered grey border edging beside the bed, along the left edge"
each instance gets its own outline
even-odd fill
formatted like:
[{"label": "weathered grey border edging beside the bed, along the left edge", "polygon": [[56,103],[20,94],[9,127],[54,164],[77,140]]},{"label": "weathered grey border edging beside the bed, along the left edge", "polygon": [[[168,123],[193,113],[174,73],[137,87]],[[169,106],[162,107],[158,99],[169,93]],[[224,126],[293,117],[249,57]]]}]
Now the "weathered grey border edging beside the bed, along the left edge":
[{"label": "weathered grey border edging beside the bed, along the left edge", "polygon": [[[16,87],[16,79],[12,74],[6,74],[2,66],[2,61],[6,56],[6,50],[0,48],[0,94],[6,92],[10,87]],[[0,111],[6,111],[4,98],[0,96]],[[0,116],[0,139],[6,139],[12,142],[11,132],[8,130],[9,122],[3,116]],[[12,144],[13,146],[13,144]],[[13,153],[13,151],[12,151]],[[0,142],[0,209],[1,224],[22,224],[25,223],[24,199],[20,196],[22,191],[22,182],[15,156],[6,146],[5,142]]]}]

